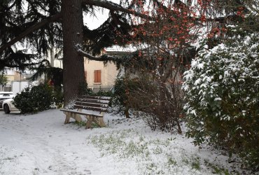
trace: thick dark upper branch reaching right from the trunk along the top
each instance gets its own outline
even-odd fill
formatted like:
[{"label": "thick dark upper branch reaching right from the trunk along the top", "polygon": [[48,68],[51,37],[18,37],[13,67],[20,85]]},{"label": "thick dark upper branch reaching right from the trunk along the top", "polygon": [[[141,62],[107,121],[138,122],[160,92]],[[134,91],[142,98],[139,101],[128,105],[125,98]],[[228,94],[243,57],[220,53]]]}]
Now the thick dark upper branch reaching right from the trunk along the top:
[{"label": "thick dark upper branch reaching right from the trunk along the top", "polygon": [[119,4],[113,3],[111,1],[83,0],[83,5],[99,6],[102,8],[107,8],[109,10],[116,10],[116,11],[121,11],[124,13],[129,13],[129,14],[136,15],[136,16],[144,18],[144,19],[148,19],[148,20],[153,19],[151,16],[148,16],[148,15],[145,15],[142,13],[138,13],[137,11],[132,10],[132,9],[124,8],[123,6],[120,6]]}]

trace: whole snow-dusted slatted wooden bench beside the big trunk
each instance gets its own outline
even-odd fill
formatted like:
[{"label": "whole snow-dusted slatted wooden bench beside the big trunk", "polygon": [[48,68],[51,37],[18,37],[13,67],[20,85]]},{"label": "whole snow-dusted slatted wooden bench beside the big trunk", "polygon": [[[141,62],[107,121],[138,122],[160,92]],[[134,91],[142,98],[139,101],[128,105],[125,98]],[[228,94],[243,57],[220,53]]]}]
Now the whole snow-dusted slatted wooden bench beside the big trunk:
[{"label": "whole snow-dusted slatted wooden bench beside the big trunk", "polygon": [[[104,114],[107,111],[111,97],[87,96],[76,99],[73,109],[60,109],[66,115],[64,124],[69,123],[70,118],[82,122],[81,116],[87,118],[85,129],[92,128],[92,122],[104,127]],[[83,111],[84,110],[84,111]]]}]

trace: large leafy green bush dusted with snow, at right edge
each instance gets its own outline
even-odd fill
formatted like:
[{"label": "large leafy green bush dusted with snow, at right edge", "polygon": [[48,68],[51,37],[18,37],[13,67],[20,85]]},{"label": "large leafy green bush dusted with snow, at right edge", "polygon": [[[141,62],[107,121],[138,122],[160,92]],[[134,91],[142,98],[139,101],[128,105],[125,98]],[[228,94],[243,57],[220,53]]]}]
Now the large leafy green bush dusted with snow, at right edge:
[{"label": "large leafy green bush dusted with snow, at right edge", "polygon": [[[259,165],[259,35],[232,28],[225,43],[203,45],[184,73],[188,137]],[[231,154],[230,154],[231,155]]]}]

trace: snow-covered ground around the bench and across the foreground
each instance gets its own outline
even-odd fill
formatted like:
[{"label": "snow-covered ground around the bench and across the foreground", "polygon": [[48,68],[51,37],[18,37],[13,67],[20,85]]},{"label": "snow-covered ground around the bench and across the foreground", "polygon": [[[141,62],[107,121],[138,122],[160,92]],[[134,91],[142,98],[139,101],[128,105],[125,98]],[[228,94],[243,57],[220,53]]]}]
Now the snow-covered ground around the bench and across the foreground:
[{"label": "snow-covered ground around the bench and across the foreground", "polygon": [[153,132],[139,118],[104,120],[109,126],[85,130],[64,125],[57,109],[27,116],[0,111],[0,174],[249,174],[184,134]]}]

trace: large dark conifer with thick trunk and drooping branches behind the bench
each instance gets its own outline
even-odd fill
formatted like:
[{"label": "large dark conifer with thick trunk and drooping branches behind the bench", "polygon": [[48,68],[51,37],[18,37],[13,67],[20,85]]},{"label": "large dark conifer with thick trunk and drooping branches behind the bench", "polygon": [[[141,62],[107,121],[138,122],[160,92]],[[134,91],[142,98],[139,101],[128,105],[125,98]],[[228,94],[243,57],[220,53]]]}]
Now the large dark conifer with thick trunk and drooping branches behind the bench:
[{"label": "large dark conifer with thick trunk and drooping branches behind the bench", "polygon": [[[128,4],[129,5],[129,4]],[[94,6],[110,10],[104,25],[90,31],[83,25],[83,12]],[[124,13],[124,14],[123,14]],[[116,3],[97,0],[10,0],[0,2],[0,70],[43,62],[41,55],[55,46],[63,50],[64,102],[79,94],[85,83],[83,56],[78,45],[93,54],[113,45],[116,31],[127,34],[130,25],[123,15],[134,13]],[[144,16],[138,13],[135,15]],[[83,41],[87,41],[84,45]],[[37,54],[15,48],[19,43]],[[76,48],[77,46],[77,48]],[[85,47],[83,47],[85,46]]]}]

